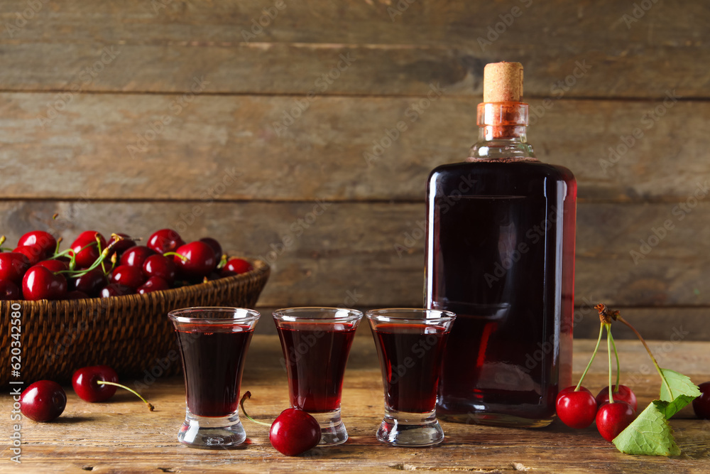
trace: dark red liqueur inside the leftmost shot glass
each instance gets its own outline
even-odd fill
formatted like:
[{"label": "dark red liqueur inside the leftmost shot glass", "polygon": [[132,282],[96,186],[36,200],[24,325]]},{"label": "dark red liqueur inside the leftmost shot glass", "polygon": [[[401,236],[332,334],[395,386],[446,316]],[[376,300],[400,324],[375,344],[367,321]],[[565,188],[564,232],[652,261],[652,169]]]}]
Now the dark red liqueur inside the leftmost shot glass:
[{"label": "dark red liqueur inside the leftmost shot glass", "polygon": [[[230,332],[217,332],[226,329]],[[243,358],[249,349],[253,329],[234,332],[232,325],[224,328],[195,325],[194,330],[175,332],[186,371],[185,392],[190,413],[226,416],[236,412]]]}]

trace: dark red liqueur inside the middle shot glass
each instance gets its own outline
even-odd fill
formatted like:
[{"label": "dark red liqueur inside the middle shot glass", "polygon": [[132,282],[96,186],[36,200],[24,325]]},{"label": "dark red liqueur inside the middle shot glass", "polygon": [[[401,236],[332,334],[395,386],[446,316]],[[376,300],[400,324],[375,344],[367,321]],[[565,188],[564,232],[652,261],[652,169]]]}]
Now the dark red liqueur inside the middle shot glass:
[{"label": "dark red liqueur inside the middle shot glass", "polygon": [[[337,327],[335,327],[337,325]],[[340,407],[343,376],[354,323],[288,323],[278,327],[292,406],[310,413],[334,411]],[[322,367],[315,370],[314,367]]]}]

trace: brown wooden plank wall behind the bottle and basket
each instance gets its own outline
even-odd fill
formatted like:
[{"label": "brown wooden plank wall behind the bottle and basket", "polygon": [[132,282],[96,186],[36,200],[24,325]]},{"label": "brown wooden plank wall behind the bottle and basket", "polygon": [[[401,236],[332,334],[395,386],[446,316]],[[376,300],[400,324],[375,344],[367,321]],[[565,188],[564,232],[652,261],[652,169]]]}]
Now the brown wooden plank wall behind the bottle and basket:
[{"label": "brown wooden plank wall behind the bottle and basket", "polygon": [[267,257],[264,307],[420,306],[427,173],[475,141],[484,65],[517,60],[530,141],[579,182],[576,334],[604,301],[650,338],[710,336],[704,2],[1,7],[10,240],[175,227]]}]

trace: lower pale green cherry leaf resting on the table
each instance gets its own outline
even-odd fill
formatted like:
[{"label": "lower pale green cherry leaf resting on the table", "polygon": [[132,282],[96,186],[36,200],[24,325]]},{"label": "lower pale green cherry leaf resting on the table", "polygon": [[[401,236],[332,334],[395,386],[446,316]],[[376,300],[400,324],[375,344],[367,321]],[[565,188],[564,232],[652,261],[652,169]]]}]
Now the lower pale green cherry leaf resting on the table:
[{"label": "lower pale green cherry leaf resting on the table", "polygon": [[673,439],[673,429],[666,418],[670,403],[660,400],[651,402],[614,438],[614,446],[626,454],[678,456],[680,448]]}]

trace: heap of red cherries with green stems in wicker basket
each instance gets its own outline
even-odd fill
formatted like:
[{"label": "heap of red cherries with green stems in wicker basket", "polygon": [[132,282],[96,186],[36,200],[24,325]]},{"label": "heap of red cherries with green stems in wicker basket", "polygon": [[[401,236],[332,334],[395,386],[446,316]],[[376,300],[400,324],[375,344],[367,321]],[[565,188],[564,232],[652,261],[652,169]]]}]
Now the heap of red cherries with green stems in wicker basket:
[{"label": "heap of red cherries with green stems in wicker basket", "polygon": [[[246,273],[251,264],[228,259],[211,237],[185,243],[178,232],[153,232],[145,245],[125,234],[107,240],[82,232],[60,251],[49,232],[33,230],[10,252],[0,237],[0,300],[58,300],[150,293]],[[11,248],[11,247],[10,247]]]}]

